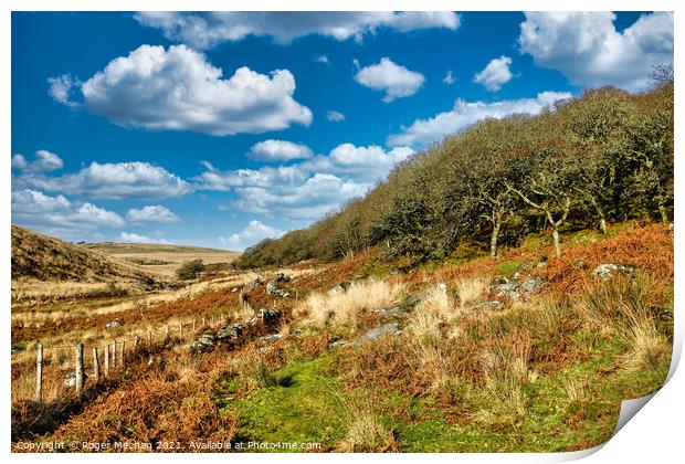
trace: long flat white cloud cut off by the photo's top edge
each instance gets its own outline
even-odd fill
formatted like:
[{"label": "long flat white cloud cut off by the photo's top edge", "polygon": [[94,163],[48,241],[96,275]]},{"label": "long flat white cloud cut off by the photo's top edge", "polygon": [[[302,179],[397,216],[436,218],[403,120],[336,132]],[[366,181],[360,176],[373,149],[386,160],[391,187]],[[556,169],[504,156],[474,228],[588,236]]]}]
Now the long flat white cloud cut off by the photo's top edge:
[{"label": "long flat white cloud cut off by the photo's top edge", "polygon": [[161,30],[167,39],[194,49],[210,49],[249,35],[266,35],[276,43],[287,44],[309,34],[361,41],[365,34],[380,28],[408,32],[460,27],[459,14],[450,11],[139,12],[135,18],[144,25]]}]

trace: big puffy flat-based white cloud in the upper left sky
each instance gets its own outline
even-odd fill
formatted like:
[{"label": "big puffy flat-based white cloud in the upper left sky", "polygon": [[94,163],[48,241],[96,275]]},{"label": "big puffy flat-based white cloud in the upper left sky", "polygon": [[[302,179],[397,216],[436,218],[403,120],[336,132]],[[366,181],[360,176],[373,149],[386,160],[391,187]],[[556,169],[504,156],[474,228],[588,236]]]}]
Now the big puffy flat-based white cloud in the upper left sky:
[{"label": "big puffy flat-based white cloud in the upper left sky", "polygon": [[220,68],[186,45],[140,45],[80,89],[86,110],[125,127],[226,136],[312,122],[309,108],[293,98],[288,70],[264,75],[243,66],[222,78]]}]

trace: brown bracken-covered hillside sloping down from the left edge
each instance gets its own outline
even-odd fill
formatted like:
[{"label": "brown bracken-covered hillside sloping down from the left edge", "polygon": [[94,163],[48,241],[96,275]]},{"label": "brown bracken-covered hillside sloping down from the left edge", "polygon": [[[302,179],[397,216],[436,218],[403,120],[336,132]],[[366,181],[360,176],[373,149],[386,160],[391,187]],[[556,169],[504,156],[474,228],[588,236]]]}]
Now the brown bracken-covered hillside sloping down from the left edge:
[{"label": "brown bracken-covered hillside sloping down from the left edge", "polygon": [[158,277],[133,263],[12,225],[12,280],[30,277],[52,282],[138,281]]}]

